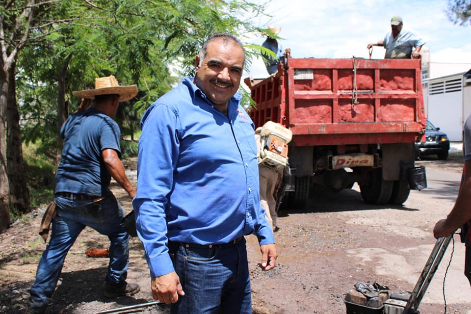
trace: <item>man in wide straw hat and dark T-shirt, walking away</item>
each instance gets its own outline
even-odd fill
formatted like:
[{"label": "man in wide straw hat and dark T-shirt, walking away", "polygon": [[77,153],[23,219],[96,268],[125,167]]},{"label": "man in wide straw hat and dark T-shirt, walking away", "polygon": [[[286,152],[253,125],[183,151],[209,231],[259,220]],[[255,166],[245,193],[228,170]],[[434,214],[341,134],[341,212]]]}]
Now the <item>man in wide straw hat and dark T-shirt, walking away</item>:
[{"label": "man in wide straw hat and dark T-shirt, walking away", "polygon": [[49,245],[43,252],[30,289],[26,313],[46,312],[67,252],[80,232],[89,226],[110,239],[105,297],[132,295],[137,284],[126,282],[129,235],[120,225],[124,210],[109,190],[111,177],[132,199],[136,191],[120,160],[121,132],[113,120],[119,102],[137,94],[137,86],[120,86],[114,76],[95,79],[95,89],[73,92],[93,99],[93,106],[70,116],[60,135],[64,148],[55,176],[55,218]]}]

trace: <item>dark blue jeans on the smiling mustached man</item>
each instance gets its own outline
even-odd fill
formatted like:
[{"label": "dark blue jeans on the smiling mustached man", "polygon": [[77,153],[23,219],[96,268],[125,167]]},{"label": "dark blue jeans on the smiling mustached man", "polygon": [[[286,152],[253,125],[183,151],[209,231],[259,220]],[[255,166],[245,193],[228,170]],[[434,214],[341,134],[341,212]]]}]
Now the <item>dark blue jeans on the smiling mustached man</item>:
[{"label": "dark blue jeans on the smiling mustached man", "polygon": [[252,313],[245,239],[211,246],[170,242],[169,250],[185,292],[171,314]]}]

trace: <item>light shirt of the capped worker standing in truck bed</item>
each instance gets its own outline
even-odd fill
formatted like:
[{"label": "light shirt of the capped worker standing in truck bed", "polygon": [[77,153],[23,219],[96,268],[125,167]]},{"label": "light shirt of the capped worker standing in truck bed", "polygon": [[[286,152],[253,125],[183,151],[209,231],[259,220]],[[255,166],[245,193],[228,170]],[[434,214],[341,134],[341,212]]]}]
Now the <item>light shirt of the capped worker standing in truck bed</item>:
[{"label": "light shirt of the capped worker standing in truck bed", "polygon": [[386,49],[385,59],[410,59],[412,49],[422,46],[425,42],[410,31],[401,30],[396,38],[389,32],[384,37],[383,46]]}]

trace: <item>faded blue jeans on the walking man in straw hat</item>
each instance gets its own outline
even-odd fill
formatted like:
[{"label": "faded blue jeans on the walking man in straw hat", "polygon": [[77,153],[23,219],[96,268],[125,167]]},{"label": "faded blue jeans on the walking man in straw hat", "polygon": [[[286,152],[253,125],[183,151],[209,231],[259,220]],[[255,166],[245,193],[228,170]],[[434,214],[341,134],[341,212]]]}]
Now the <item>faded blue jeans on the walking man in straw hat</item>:
[{"label": "faded blue jeans on the walking man in straw hat", "polygon": [[51,238],[36,271],[36,281],[29,290],[30,306],[42,309],[52,298],[69,249],[80,232],[89,226],[110,240],[108,273],[105,281],[126,280],[129,264],[129,235],[121,227],[124,210],[111,194],[102,201],[69,200],[54,197],[56,216],[52,221]]}]

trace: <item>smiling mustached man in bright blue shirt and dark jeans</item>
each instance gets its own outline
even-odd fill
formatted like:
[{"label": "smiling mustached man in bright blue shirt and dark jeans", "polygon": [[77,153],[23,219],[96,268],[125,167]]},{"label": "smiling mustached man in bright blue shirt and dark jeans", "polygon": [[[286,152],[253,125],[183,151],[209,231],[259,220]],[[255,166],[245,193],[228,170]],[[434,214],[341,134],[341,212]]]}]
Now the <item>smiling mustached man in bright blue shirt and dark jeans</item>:
[{"label": "smiling mustached man in bright blue shirt and dark jeans", "polygon": [[257,235],[260,267],[275,266],[254,124],[237,93],[244,61],[235,36],[211,36],[195,58],[195,78],[141,121],[136,228],[153,297],[172,303],[171,313],[251,313],[244,235]]}]

